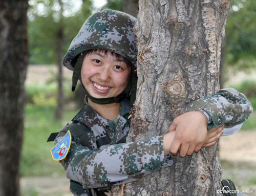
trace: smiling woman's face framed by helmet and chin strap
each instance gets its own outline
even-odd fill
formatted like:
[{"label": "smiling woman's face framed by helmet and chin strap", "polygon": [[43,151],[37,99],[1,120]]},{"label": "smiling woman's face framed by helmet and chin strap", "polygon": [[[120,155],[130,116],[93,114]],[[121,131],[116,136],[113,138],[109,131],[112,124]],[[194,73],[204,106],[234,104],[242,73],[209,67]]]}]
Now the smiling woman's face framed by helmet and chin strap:
[{"label": "smiling woman's face framed by helmet and chin strap", "polygon": [[95,98],[121,94],[129,82],[130,74],[131,67],[124,58],[117,58],[112,52],[95,50],[87,53],[82,62],[82,84]]}]

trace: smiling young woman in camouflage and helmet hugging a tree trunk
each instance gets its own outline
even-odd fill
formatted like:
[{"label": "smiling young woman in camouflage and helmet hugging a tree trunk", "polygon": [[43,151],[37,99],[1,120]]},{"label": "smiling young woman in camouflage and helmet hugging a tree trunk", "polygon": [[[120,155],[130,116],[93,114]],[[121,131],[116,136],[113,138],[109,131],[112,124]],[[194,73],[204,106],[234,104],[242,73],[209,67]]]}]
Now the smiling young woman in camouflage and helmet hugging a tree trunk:
[{"label": "smiling young woman in camouflage and helmet hugging a tree trunk", "polygon": [[[113,185],[133,182],[172,166],[170,152],[176,154],[180,149],[179,154],[184,157],[199,151],[203,145],[214,145],[221,136],[225,122],[229,125],[239,124],[249,115],[250,105],[246,98],[235,90],[223,90],[218,95],[194,101],[188,108],[191,112],[174,119],[169,127],[170,132],[166,129],[162,130],[162,133],[167,132],[164,135],[126,142],[134,103],[131,97],[135,97],[136,89],[134,91],[133,87],[137,85],[134,71],[137,61],[133,33],[135,24],[136,18],[124,12],[97,12],[84,22],[63,58],[64,66],[74,71],[72,90],[75,90],[80,79],[88,101],[72,123],[59,133],[52,134],[48,141],[55,139],[52,151],[60,153],[57,154],[59,157],[67,155],[65,158],[57,156],[54,160],[60,161],[65,168],[74,195],[106,195],[104,192],[108,192]],[[230,104],[226,98],[234,95],[234,107],[240,106],[240,102],[244,103],[241,110],[243,118],[239,122],[238,118],[225,116],[224,109],[219,106]],[[210,104],[206,104],[208,102]],[[211,119],[217,117],[215,112],[223,114],[222,119],[225,120]],[[218,122],[216,119],[219,119]],[[209,132],[207,120],[210,127],[216,126]],[[188,134],[183,139],[185,143],[176,141],[174,149],[177,149],[171,151],[177,129]],[[235,128],[230,132],[237,130]],[[68,144],[65,138],[69,133],[70,148],[62,151]],[[186,143],[185,139],[191,142]]]}]

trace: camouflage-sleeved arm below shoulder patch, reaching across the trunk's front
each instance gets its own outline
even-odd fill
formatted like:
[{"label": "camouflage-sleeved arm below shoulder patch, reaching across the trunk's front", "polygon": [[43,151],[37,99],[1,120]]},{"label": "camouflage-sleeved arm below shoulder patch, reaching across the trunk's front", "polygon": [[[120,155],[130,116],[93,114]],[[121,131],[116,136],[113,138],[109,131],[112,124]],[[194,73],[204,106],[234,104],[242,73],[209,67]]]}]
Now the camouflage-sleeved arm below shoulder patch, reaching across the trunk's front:
[{"label": "camouflage-sleeved arm below shoulder patch, reaching across the trunk's front", "polygon": [[[62,130],[56,141],[61,140],[65,133]],[[140,142],[114,144],[101,150],[91,150],[79,144],[72,133],[71,148],[60,163],[70,180],[87,188],[110,187],[136,181],[172,165],[172,156],[165,155],[169,154],[174,134],[175,132],[170,132],[165,136]]]}]

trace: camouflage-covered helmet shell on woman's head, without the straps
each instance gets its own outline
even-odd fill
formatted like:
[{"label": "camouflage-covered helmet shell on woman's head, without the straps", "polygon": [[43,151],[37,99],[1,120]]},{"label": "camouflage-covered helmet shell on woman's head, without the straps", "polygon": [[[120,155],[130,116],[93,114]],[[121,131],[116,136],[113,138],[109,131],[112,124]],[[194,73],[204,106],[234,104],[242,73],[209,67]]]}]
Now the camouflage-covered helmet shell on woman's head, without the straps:
[{"label": "camouflage-covered helmet shell on woman's head, without the straps", "polygon": [[116,10],[102,10],[91,15],[71,42],[62,63],[70,70],[71,61],[81,52],[92,49],[109,50],[137,61],[137,46],[133,27],[137,19]]}]

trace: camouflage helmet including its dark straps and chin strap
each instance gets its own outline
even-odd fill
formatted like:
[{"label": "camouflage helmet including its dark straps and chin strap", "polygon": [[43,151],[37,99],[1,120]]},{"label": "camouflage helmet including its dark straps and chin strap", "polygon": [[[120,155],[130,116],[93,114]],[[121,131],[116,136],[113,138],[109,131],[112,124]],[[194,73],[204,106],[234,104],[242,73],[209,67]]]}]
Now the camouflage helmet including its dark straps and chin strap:
[{"label": "camouflage helmet including its dark straps and chin strap", "polygon": [[[129,14],[116,10],[102,10],[90,16],[82,25],[80,31],[71,42],[62,63],[73,70],[72,91],[75,90],[78,79],[81,81],[82,52],[87,50],[108,50],[117,53],[136,66],[137,46],[133,27],[137,19]],[[86,96],[93,102],[108,104],[120,102],[130,97],[133,103],[136,97],[137,75],[132,72],[125,90],[116,97],[95,98],[84,88]]]}]

